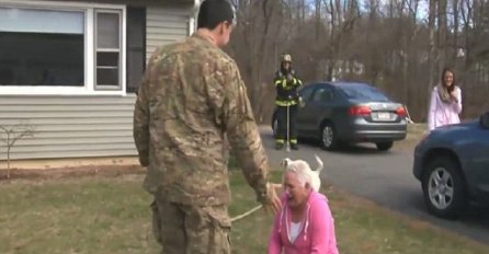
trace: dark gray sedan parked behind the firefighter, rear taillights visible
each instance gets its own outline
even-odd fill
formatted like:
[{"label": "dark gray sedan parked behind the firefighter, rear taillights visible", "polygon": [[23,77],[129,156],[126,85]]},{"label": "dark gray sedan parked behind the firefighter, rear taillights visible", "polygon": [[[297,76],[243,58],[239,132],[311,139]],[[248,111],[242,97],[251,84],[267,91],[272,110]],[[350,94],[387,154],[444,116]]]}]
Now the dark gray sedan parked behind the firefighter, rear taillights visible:
[{"label": "dark gray sedan parked behind the firefighter, rear taillights visible", "polygon": [[[406,138],[406,109],[365,83],[319,82],[300,91],[297,113],[299,138],[317,139],[326,150],[343,143],[374,142],[389,150]],[[272,128],[276,129],[276,114]]]}]

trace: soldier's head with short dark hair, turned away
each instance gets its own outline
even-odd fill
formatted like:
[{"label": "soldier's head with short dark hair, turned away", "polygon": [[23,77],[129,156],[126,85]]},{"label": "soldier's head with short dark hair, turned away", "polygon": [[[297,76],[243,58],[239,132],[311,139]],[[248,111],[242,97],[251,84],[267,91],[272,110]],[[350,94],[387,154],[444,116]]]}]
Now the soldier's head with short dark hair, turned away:
[{"label": "soldier's head with short dark hair, turned away", "polygon": [[198,10],[197,30],[207,30],[221,47],[229,43],[234,20],[235,12],[227,0],[205,0]]}]

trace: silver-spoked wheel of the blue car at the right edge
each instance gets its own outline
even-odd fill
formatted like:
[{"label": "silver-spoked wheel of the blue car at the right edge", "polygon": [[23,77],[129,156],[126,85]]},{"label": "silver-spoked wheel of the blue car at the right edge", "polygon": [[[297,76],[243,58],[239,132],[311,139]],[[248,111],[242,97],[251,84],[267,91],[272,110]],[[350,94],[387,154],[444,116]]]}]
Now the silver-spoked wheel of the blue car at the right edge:
[{"label": "silver-spoked wheel of the blue car at the right edge", "polygon": [[428,163],[422,177],[424,203],[428,210],[445,219],[457,218],[467,204],[466,186],[458,163],[439,157]]}]

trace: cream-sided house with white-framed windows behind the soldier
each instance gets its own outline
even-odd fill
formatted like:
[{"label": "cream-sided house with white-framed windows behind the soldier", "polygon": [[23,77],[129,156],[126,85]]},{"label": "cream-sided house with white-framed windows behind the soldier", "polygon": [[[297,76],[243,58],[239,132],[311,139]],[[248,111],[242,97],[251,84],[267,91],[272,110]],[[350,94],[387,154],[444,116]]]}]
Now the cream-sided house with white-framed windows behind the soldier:
[{"label": "cream-sided house with white-framed windows behind the soldier", "polygon": [[[193,33],[197,4],[0,0],[0,125],[36,130],[12,159],[135,155],[145,65],[157,46]],[[0,160],[5,151],[0,142]]]}]

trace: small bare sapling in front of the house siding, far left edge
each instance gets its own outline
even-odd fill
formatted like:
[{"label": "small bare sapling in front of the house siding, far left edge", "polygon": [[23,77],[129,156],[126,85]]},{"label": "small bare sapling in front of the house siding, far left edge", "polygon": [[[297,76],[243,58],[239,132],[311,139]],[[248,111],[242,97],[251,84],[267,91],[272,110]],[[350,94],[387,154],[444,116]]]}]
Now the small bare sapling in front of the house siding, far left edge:
[{"label": "small bare sapling in front of the house siding, far left edge", "polygon": [[25,138],[33,137],[35,134],[34,126],[20,123],[15,125],[0,125],[0,141],[4,143],[7,149],[7,178],[10,178],[10,153],[16,141]]}]

